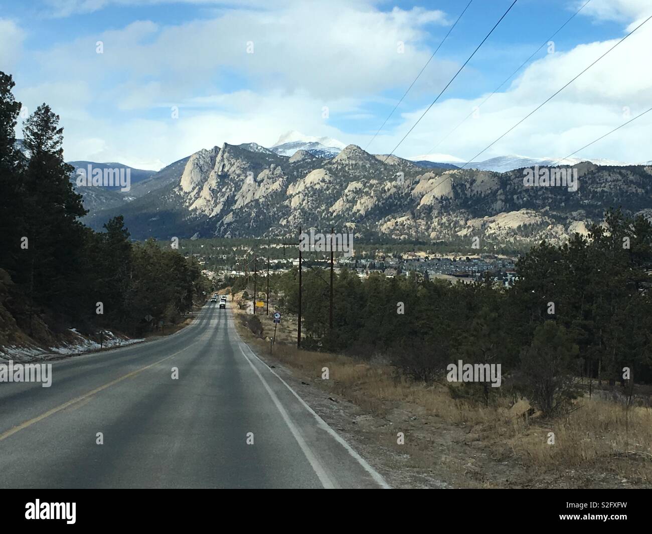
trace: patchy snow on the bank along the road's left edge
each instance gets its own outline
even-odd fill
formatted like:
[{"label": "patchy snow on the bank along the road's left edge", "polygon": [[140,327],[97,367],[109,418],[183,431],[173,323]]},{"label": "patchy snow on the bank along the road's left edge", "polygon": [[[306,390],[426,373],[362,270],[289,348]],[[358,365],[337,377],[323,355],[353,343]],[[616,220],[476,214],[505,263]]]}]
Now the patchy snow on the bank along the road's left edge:
[{"label": "patchy snow on the bank along the road's left edge", "polygon": [[[95,339],[87,338],[74,328],[69,329],[74,341],[57,347],[41,348],[37,346],[8,346],[0,347],[0,359],[27,362],[35,360],[59,359],[61,356],[72,356],[89,351],[100,349],[100,344]],[[113,332],[102,331],[102,347],[115,348],[132,345],[143,341],[143,339],[128,339],[113,334]]]}]

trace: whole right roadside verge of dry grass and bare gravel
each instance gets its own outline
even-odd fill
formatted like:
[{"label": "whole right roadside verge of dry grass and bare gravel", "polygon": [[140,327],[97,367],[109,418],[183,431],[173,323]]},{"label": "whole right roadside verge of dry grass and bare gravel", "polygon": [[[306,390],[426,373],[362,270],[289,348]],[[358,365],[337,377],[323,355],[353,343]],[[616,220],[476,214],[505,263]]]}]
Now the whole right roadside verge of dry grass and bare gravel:
[{"label": "whole right roadside verge of dry grass and bare gravel", "polygon": [[[270,336],[271,319],[259,319]],[[608,383],[596,382],[589,397],[589,379],[576,378],[577,398],[545,416],[525,396],[499,391],[485,406],[467,385],[410,378],[380,356],[297,349],[287,329],[270,356],[269,341],[250,333],[246,319],[238,324],[258,355],[288,370],[284,378],[304,400],[395,487],[652,487],[652,411],[642,400],[628,406]],[[649,399],[649,387],[637,391]]]}]

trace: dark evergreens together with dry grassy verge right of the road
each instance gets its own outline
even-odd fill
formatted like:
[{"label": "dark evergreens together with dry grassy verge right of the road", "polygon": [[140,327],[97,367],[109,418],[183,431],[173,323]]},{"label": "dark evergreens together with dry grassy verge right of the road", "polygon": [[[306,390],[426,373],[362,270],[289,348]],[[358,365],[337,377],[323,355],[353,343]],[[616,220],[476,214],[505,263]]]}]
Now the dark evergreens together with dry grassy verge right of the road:
[{"label": "dark evergreens together with dry grassy verge right of the road", "polygon": [[[588,237],[533,247],[511,288],[342,270],[333,329],[330,274],[305,269],[302,349],[295,269],[270,280],[271,310],[284,318],[272,361],[385,419],[388,447],[454,485],[650,486],[651,265],[649,221],[611,209]],[[234,287],[252,293],[244,280]],[[271,337],[271,316],[259,319],[256,337]],[[268,357],[269,340],[250,341]],[[500,387],[448,381],[459,360],[501,364]],[[409,414],[402,427],[396,413]]]}]

